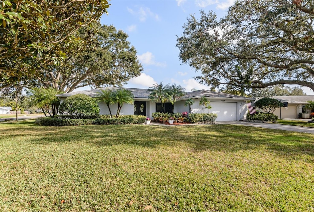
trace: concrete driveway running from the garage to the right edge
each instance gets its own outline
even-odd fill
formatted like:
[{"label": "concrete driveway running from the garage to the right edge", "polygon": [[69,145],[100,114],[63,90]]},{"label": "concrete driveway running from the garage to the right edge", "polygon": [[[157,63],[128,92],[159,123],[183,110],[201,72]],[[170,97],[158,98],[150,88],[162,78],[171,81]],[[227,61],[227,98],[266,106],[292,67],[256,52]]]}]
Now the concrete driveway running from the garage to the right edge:
[{"label": "concrete driveway running from the garage to the right edge", "polygon": [[298,126],[291,126],[291,125],[284,125],[284,124],[255,123],[255,122],[242,122],[242,121],[224,121],[224,122],[216,122],[216,123],[217,124],[238,124],[238,125],[245,125],[245,126],[250,126],[250,127],[280,129],[280,130],[286,130],[286,131],[314,134],[314,128],[298,127]]}]

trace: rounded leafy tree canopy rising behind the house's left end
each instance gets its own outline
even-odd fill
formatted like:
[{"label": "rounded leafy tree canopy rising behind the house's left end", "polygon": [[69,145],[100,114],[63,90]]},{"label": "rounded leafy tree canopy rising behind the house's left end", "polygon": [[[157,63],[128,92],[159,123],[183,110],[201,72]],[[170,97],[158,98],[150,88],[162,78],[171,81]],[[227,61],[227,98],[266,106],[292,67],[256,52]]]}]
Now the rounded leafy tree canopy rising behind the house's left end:
[{"label": "rounded leafy tree canopy rising behind the house's left end", "polygon": [[143,71],[135,48],[122,30],[96,22],[91,27],[81,27],[74,36],[84,41],[84,48],[72,49],[59,66],[42,68],[28,84],[67,93],[84,86],[121,86]]}]

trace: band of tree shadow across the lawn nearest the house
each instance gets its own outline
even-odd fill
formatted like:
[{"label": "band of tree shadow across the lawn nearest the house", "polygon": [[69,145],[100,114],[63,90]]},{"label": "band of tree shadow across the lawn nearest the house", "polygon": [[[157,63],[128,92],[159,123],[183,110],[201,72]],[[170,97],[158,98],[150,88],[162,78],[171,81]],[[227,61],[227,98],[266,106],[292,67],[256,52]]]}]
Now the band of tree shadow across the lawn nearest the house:
[{"label": "band of tree shadow across the lawn nearest the house", "polygon": [[41,145],[85,142],[98,147],[112,145],[132,145],[147,148],[182,146],[182,148],[187,147],[192,151],[236,152],[260,149],[291,158],[294,158],[295,155],[314,156],[314,136],[311,134],[240,125],[44,127],[37,126],[33,122],[26,124],[24,122],[24,128],[20,128],[22,124],[22,122],[14,123],[10,127],[0,128],[1,139],[14,140],[21,137],[24,141]]}]

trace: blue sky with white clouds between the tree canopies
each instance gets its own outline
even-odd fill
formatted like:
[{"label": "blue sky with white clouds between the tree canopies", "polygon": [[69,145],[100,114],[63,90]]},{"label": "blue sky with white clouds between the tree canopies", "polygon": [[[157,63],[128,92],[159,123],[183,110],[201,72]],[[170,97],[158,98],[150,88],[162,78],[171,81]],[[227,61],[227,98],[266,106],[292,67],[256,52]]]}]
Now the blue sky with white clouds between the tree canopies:
[{"label": "blue sky with white clouds between the tree canopies", "polygon": [[[234,0],[111,0],[109,14],[101,17],[101,24],[114,25],[125,31],[128,41],[137,50],[144,71],[124,87],[148,88],[154,83],[177,84],[186,91],[209,89],[193,77],[200,75],[179,60],[177,35],[190,14],[199,17],[199,11],[213,10],[218,18],[225,15]],[[313,95],[310,89],[304,89]]]}]

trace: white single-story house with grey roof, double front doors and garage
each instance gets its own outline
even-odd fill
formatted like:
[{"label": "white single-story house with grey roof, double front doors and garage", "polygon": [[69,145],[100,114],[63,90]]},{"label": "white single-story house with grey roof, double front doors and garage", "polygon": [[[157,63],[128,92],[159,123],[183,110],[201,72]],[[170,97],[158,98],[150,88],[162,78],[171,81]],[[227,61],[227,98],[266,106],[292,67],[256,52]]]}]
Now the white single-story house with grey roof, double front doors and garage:
[{"label": "white single-story house with grey roof, double front doors and garage", "polygon": [[[106,89],[106,88],[100,88]],[[57,97],[61,100],[65,100],[67,97],[75,94],[86,94],[90,97],[95,97],[100,89],[76,91],[65,94],[58,94]],[[108,89],[117,90],[119,88],[109,87]],[[120,114],[122,115],[144,115],[152,117],[152,113],[161,112],[161,103],[158,101],[151,101],[148,99],[148,89],[137,89],[137,88],[125,88],[131,90],[134,95],[134,104],[124,104]],[[192,113],[201,113],[202,106],[199,105],[200,98],[205,96],[210,105],[213,107],[209,110],[210,113],[216,113],[218,115],[217,121],[237,121],[246,118],[247,108],[246,101],[255,100],[254,98],[247,98],[243,96],[236,96],[221,92],[214,92],[209,90],[198,90],[187,92],[187,94],[175,103],[174,112],[189,112],[189,106],[184,106],[187,99],[194,99],[194,104],[191,106]],[[100,102],[100,114],[109,114],[108,107],[105,103]],[[117,105],[110,106],[112,114],[116,113]],[[171,112],[172,105],[169,101],[165,102],[165,111]],[[208,113],[208,109],[204,109],[204,113]]]}]

